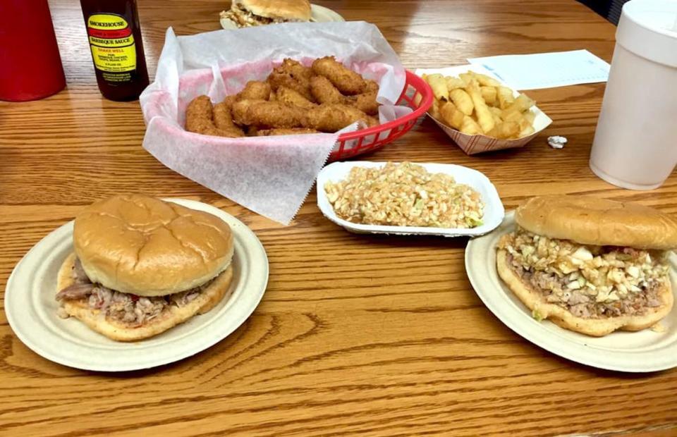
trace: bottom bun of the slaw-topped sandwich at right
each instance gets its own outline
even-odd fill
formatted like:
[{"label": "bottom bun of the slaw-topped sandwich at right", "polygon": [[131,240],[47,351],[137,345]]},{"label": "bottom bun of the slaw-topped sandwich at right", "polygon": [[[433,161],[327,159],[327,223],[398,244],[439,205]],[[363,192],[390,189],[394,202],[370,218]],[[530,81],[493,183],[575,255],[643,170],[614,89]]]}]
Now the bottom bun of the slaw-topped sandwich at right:
[{"label": "bottom bun of the slaw-topped sandwich at right", "polygon": [[588,336],[602,337],[616,330],[641,331],[657,324],[672,309],[673,295],[670,281],[660,290],[659,297],[663,304],[660,307],[651,308],[642,316],[616,316],[604,319],[584,319],[574,316],[567,309],[556,304],[545,302],[542,294],[535,290],[530,283],[525,283],[508,263],[508,252],[500,249],[496,252],[496,268],[499,276],[508,285],[508,288],[525,304],[532,312],[537,311],[542,319],[550,319],[561,328]]}]

